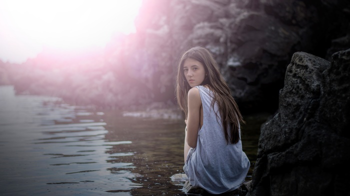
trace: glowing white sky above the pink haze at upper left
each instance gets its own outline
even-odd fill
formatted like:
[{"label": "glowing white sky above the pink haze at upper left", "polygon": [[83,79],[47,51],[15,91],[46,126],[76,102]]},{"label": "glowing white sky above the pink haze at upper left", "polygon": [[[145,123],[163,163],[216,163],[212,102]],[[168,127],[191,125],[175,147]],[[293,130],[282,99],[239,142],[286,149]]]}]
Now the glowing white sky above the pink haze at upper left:
[{"label": "glowing white sky above the pink haze at upper left", "polygon": [[21,63],[42,46],[103,47],[135,32],[142,0],[0,0],[0,60]]}]

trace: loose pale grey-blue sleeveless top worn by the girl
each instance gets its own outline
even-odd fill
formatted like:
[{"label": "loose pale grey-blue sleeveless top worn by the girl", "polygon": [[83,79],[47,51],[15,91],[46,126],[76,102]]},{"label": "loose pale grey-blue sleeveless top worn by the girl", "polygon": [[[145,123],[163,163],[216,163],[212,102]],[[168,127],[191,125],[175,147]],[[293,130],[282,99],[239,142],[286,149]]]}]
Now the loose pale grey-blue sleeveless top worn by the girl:
[{"label": "loose pale grey-blue sleeveless top worn by the girl", "polygon": [[198,130],[196,147],[188,152],[183,170],[192,186],[199,186],[209,193],[234,190],[244,181],[250,162],[242,151],[240,139],[235,144],[227,144],[217,103],[214,109],[219,118],[211,105],[213,92],[204,86],[195,87],[202,102],[203,125]]}]

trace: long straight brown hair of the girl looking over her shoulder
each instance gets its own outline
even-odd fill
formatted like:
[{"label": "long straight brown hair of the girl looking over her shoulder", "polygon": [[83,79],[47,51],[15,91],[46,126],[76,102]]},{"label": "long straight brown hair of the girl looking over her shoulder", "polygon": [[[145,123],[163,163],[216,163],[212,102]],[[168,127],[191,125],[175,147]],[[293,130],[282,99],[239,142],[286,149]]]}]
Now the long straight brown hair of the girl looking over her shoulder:
[{"label": "long straight brown hair of the girl looking over her shoulder", "polygon": [[[216,61],[211,53],[203,47],[195,46],[185,51],[178,63],[175,90],[180,109],[185,113],[187,119],[187,92],[191,88],[183,72],[183,63],[187,58],[195,59],[203,64],[207,76],[201,85],[208,86],[214,92],[211,106],[214,107],[214,103],[217,102],[227,143],[237,143],[240,139],[239,121],[244,123],[243,117],[240,114],[237,103],[231,96],[230,89],[221,75]],[[230,130],[229,134],[228,129]]]}]

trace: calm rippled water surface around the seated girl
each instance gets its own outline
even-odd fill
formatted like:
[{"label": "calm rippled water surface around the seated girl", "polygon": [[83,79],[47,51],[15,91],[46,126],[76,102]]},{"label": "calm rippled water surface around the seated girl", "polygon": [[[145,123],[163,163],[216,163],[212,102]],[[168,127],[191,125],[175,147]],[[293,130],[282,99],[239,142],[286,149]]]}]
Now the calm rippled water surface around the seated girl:
[{"label": "calm rippled water surface around the seated girl", "polygon": [[[247,180],[266,117],[245,116]],[[184,195],[170,178],[183,173],[183,128],[183,120],[124,117],[0,86],[0,194]]]}]

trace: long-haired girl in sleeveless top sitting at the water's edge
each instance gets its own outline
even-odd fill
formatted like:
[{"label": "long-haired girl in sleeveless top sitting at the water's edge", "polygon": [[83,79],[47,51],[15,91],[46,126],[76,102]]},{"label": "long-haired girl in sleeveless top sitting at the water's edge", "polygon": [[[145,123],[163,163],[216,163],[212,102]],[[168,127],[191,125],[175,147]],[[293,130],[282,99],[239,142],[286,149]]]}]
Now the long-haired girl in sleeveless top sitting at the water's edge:
[{"label": "long-haired girl in sleeveless top sitting at the water's edge", "polygon": [[238,188],[250,166],[240,140],[239,122],[244,121],[207,49],[183,53],[176,97],[185,113],[183,170],[190,184],[212,194]]}]

